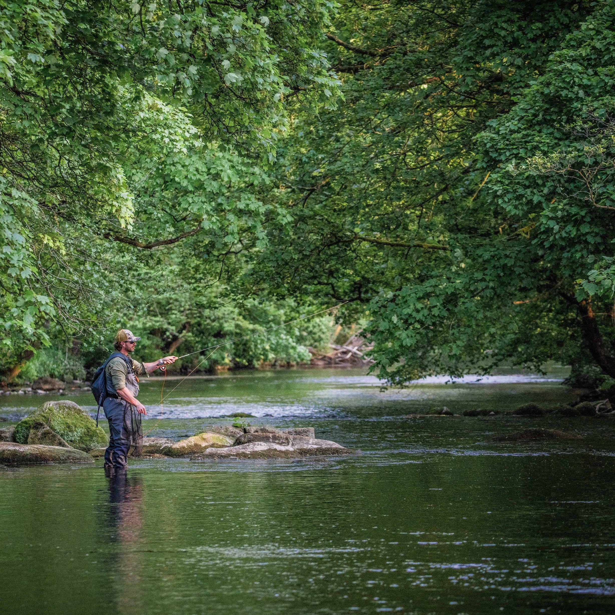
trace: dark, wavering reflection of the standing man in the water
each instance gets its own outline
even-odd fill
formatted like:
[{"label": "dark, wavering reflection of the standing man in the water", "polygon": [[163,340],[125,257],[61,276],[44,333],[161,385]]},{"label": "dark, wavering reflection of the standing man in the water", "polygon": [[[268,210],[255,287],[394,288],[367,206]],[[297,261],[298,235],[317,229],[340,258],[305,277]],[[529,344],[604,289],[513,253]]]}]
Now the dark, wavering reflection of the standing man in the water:
[{"label": "dark, wavering reflection of the standing man in the water", "polygon": [[106,467],[109,483],[109,530],[117,542],[117,568],[114,574],[115,600],[118,613],[140,613],[141,525],[143,525],[143,484],[139,475],[125,467]]}]

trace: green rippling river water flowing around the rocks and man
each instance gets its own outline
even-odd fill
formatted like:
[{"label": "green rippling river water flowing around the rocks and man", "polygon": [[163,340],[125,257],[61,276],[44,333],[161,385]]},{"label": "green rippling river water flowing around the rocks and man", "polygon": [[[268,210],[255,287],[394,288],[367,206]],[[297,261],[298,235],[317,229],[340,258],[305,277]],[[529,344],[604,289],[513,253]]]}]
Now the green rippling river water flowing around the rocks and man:
[{"label": "green rippling river water flowing around the rocks and man", "polygon": [[[0,612],[613,613],[615,421],[405,416],[573,399],[557,374],[476,380],[381,391],[359,370],[246,371],[189,379],[162,411],[146,381],[149,435],[249,411],[357,453],[0,472]],[[49,399],[4,395],[0,416]],[[491,442],[536,426],[583,438]]]}]

